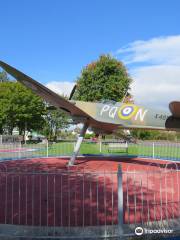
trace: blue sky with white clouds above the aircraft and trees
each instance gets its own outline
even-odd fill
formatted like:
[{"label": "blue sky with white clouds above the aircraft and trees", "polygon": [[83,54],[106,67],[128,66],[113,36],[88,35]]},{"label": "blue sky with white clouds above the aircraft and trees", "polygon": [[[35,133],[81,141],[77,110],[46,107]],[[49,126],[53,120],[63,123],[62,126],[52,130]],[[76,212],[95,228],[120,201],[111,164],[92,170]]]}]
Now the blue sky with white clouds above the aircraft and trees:
[{"label": "blue sky with white clouds above the aircraft and trees", "polygon": [[0,59],[69,94],[81,70],[112,54],[137,104],[180,100],[179,0],[0,0]]}]

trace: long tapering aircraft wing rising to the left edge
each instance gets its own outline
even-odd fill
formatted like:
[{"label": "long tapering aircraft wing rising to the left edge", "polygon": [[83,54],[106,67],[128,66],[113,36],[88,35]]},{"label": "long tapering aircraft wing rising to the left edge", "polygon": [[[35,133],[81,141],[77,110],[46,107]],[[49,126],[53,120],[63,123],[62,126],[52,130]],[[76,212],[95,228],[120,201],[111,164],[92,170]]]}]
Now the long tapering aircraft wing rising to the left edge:
[{"label": "long tapering aircraft wing rising to the left edge", "polygon": [[55,92],[46,88],[39,82],[33,80],[32,78],[28,77],[24,73],[20,72],[19,70],[11,67],[10,65],[2,61],[0,61],[0,67],[2,67],[7,73],[12,75],[17,81],[25,85],[27,88],[30,88],[33,92],[35,92],[37,95],[39,95],[40,97],[42,97],[47,102],[54,105],[55,107],[61,108],[69,112],[71,115],[80,116],[80,117],[88,116],[84,111],[82,111],[80,108],[75,106],[73,103],[59,96]]}]

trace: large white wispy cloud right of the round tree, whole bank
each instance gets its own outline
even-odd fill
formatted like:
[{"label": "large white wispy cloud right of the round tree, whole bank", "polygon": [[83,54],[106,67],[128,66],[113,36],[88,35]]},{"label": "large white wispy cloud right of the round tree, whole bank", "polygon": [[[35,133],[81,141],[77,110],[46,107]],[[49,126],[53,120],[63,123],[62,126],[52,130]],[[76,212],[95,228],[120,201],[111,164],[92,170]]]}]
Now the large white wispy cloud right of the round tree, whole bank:
[{"label": "large white wispy cloud right of the round tree, whole bank", "polygon": [[130,69],[137,103],[168,108],[180,100],[180,35],[135,41],[116,54]]}]

